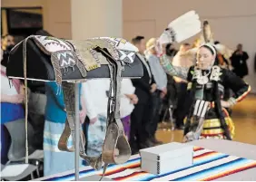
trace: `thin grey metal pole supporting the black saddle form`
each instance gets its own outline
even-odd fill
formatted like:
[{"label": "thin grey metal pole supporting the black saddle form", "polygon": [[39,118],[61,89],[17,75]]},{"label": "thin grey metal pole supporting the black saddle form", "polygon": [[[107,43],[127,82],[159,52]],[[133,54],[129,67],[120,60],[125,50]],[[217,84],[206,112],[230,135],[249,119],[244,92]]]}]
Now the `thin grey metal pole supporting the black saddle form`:
[{"label": "thin grey metal pole supporting the black saddle form", "polygon": [[79,126],[80,126],[80,121],[79,121],[79,84],[74,83],[74,97],[75,97],[75,130],[74,130],[74,138],[75,138],[75,144],[74,144],[74,171],[75,171],[75,181],[79,180]]}]

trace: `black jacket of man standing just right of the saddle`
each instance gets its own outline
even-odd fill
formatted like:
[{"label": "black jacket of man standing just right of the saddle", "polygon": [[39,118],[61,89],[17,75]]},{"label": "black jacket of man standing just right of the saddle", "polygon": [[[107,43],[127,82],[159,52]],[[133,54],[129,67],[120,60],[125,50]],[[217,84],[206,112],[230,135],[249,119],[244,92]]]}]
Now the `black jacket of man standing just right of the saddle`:
[{"label": "black jacket of man standing just right of the saddle", "polygon": [[[140,57],[136,55],[139,60]],[[142,62],[142,61],[141,61]],[[142,62],[143,63],[143,62]],[[150,65],[147,62],[149,68]],[[147,68],[143,63],[143,77],[140,79],[132,79],[133,86],[135,87],[135,94],[137,95],[139,101],[138,104],[146,104],[150,100],[151,96],[151,85],[155,83],[153,74],[152,74],[152,81],[150,83],[150,75],[148,74]]]}]

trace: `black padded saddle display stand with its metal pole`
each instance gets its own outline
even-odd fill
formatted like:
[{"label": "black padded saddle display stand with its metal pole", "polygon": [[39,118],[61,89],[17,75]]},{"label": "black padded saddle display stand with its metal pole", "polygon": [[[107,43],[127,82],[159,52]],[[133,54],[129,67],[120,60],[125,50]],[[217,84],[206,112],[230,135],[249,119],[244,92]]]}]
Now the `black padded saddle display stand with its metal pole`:
[{"label": "black padded saddle display stand with its metal pole", "polygon": [[[25,86],[27,87],[27,82],[26,81],[44,81],[44,82],[47,82],[47,81],[57,81],[57,80],[54,80],[54,77],[57,78],[57,75],[53,75],[53,72],[55,72],[54,70],[54,66],[53,64],[61,64],[60,62],[65,59],[65,58],[58,58],[59,60],[57,60],[58,62],[56,62],[54,59],[55,57],[49,57],[49,55],[46,55],[44,52],[42,52],[42,45],[44,44],[42,42],[42,45],[41,45],[41,49],[39,48],[39,45],[34,43],[33,41],[28,41],[29,38],[33,37],[34,35],[31,35],[29,37],[27,37],[25,39],[25,42],[24,43],[18,43],[15,48],[12,50],[13,52],[10,54],[9,56],[9,61],[8,61],[8,64],[7,64],[7,77],[8,78],[12,78],[12,79],[21,79],[21,80],[25,80]],[[40,39],[40,37],[37,39]],[[50,40],[50,41],[49,41]],[[27,44],[26,42],[28,41],[28,45],[29,45],[29,49],[27,49]],[[45,41],[45,39],[44,39]],[[46,44],[47,43],[53,43],[54,42],[54,38],[52,39],[46,39]],[[40,42],[41,43],[41,42]],[[40,44],[39,43],[39,44]],[[46,45],[44,44],[44,46],[46,47]],[[120,46],[124,46],[122,44],[120,44]],[[121,77],[125,77],[125,78],[141,78],[143,76],[143,65],[142,65],[142,62],[139,61],[138,58],[136,58],[135,56],[135,50],[133,50],[133,46],[132,44],[128,43],[128,48],[126,50],[127,54],[128,53],[133,53],[134,57],[128,57],[128,55],[126,55],[127,57],[126,58],[126,61],[128,59],[128,61],[131,61],[129,59],[133,59],[136,60],[134,62],[129,62],[128,64],[131,64],[133,63],[133,66],[130,66],[128,65],[127,67],[125,66],[125,68],[127,69],[124,69],[122,71],[122,75],[120,75]],[[129,47],[130,46],[130,47]],[[44,47],[44,48],[45,48]],[[122,48],[125,50],[125,48]],[[28,51],[27,51],[28,50]],[[130,51],[132,50],[132,51]],[[63,50],[65,51],[65,50]],[[51,53],[49,50],[48,50],[49,54],[52,55],[52,53],[54,53],[54,51]],[[124,52],[121,52],[121,53],[124,53]],[[130,55],[129,54],[129,55]],[[109,56],[109,55],[107,55]],[[130,55],[131,56],[131,55]],[[49,63],[51,59],[51,63]],[[34,64],[34,60],[37,60],[38,65]],[[66,61],[66,60],[65,60]],[[127,61],[127,62],[128,62]],[[28,66],[26,66],[28,65]],[[119,64],[118,64],[119,65]],[[41,67],[41,71],[43,72],[34,72],[32,68],[35,68],[35,67]],[[74,66],[74,65],[73,65]],[[79,69],[79,67],[75,64],[76,66],[76,69]],[[98,76],[95,72],[97,72],[96,70],[93,70],[93,71],[90,71],[92,74],[90,75],[90,72],[89,72],[89,75],[86,74],[86,77],[82,77],[80,73],[77,73],[75,74],[75,72],[71,72],[70,77],[67,77],[63,72],[61,72],[61,75],[59,76],[62,76],[61,80],[59,80],[59,82],[64,82],[64,81],[67,81],[67,82],[71,82],[73,83],[74,85],[71,85],[71,87],[74,86],[74,127],[73,127],[73,131],[74,131],[74,174],[75,174],[75,180],[78,181],[79,180],[79,167],[80,167],[80,158],[81,158],[81,143],[80,143],[80,133],[81,133],[81,130],[80,130],[80,119],[79,119],[79,83],[84,81],[84,79],[94,79],[94,78],[111,78],[111,74],[112,72],[110,72],[110,67],[112,67],[113,65],[109,66],[109,65],[102,65],[101,68],[99,68],[98,70]],[[53,68],[54,67],[54,68]],[[22,70],[23,68],[23,70]],[[81,68],[81,67],[80,67]],[[103,70],[105,68],[105,70]],[[124,68],[124,67],[123,67]],[[74,67],[73,67],[74,69]],[[88,72],[86,72],[88,73]],[[82,74],[83,75],[83,74]],[[59,77],[58,77],[59,78]],[[58,82],[58,81],[57,81]],[[27,90],[27,88],[26,88]],[[27,94],[27,92],[25,93]],[[26,111],[27,111],[27,106],[26,106]],[[61,165],[61,164],[60,164]]]}]

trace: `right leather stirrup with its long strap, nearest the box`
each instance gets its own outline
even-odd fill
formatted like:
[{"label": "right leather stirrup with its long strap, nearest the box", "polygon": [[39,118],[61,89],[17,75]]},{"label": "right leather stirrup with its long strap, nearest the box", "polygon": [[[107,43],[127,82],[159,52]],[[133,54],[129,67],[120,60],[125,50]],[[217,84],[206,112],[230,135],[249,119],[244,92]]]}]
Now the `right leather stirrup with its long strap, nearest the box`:
[{"label": "right leather stirrup with its long strap, nearest the box", "polygon": [[[121,73],[123,65],[120,61],[116,61],[105,51],[101,51],[113,65],[113,90],[110,91],[109,101],[113,92],[113,101],[108,113],[106,137],[103,143],[103,175],[108,164],[122,164],[131,157],[131,148],[129,142],[125,138],[123,123],[120,120],[120,92],[121,92]],[[118,152],[118,154],[116,154]],[[102,178],[103,178],[102,175]],[[101,179],[102,179],[101,178]],[[100,180],[101,180],[100,179]]]}]

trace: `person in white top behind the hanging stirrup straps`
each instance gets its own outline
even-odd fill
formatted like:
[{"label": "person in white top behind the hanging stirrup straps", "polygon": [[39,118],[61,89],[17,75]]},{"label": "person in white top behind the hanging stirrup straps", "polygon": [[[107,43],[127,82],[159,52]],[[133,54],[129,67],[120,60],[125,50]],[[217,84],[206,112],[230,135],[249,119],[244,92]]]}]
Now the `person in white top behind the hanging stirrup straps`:
[{"label": "person in white top behind the hanging stirrup straps", "polygon": [[[90,120],[87,126],[87,148],[89,156],[98,156],[102,152],[105,139],[107,103],[109,94],[109,79],[94,79],[83,83],[84,100],[87,117]],[[120,116],[123,122],[124,134],[130,136],[130,115],[133,104],[138,102],[134,95],[135,88],[130,79],[123,79],[121,86]]]}]

